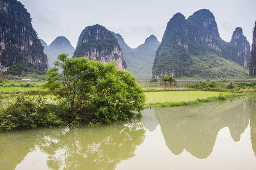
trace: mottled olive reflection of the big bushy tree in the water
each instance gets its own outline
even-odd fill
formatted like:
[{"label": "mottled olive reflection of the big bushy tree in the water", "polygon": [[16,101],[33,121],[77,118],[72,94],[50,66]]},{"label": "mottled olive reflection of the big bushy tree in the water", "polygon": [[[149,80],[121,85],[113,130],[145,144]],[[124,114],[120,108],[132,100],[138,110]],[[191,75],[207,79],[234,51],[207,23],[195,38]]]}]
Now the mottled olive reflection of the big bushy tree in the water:
[{"label": "mottled olive reflection of the big bushy tree in the water", "polygon": [[115,169],[122,160],[134,157],[144,137],[143,124],[132,121],[55,133],[46,130],[38,145],[49,155],[47,166],[51,169]]}]

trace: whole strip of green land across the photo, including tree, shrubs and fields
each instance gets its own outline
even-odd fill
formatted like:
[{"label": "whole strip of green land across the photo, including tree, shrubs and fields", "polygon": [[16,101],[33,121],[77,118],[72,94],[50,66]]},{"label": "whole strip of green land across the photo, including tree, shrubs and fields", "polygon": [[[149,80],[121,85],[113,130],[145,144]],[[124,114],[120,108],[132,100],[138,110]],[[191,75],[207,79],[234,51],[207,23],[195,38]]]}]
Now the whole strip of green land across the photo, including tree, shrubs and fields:
[{"label": "whole strip of green land across the photo, including tree, shrubs and fields", "polygon": [[144,106],[223,101],[256,89],[255,81],[180,82],[171,76],[136,83],[131,73],[116,70],[115,63],[68,59],[66,54],[58,59],[63,73],[51,68],[45,77],[0,76],[0,129],[95,127],[141,116]]}]

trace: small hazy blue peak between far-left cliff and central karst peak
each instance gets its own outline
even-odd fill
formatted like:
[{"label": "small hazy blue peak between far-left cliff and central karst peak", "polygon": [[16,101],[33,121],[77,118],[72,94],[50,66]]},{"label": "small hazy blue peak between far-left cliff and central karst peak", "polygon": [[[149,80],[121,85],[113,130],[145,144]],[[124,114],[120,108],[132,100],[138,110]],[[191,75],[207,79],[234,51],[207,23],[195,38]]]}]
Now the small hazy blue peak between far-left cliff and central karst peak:
[{"label": "small hazy blue peak between far-left cliff and central karst peak", "polygon": [[41,40],[42,45],[44,45],[44,52],[48,58],[48,68],[54,66],[54,61],[56,61],[57,57],[61,53],[68,53],[69,56],[73,56],[74,47],[72,47],[71,43],[65,36],[58,36],[49,46],[44,40]]}]

